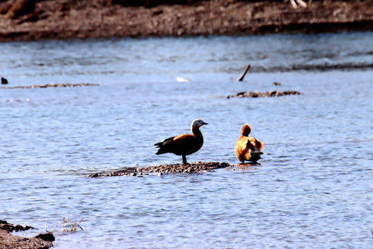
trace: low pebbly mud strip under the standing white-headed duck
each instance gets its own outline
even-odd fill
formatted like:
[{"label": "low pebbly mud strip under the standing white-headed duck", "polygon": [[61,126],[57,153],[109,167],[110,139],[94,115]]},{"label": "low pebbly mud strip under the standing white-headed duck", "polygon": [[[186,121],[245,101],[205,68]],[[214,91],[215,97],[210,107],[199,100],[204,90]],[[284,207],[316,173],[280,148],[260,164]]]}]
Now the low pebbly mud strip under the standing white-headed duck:
[{"label": "low pebbly mud strip under the standing white-headed duck", "polygon": [[185,173],[193,174],[197,172],[207,172],[212,169],[221,169],[231,167],[228,163],[218,162],[198,162],[183,164],[172,164],[172,165],[156,165],[147,167],[125,167],[123,169],[116,170],[115,172],[98,172],[90,174],[88,177],[104,177],[104,176],[144,176],[146,174],[175,174]]}]

